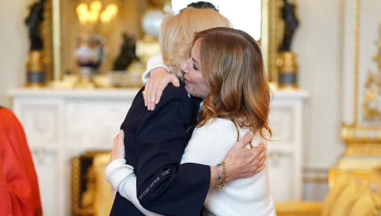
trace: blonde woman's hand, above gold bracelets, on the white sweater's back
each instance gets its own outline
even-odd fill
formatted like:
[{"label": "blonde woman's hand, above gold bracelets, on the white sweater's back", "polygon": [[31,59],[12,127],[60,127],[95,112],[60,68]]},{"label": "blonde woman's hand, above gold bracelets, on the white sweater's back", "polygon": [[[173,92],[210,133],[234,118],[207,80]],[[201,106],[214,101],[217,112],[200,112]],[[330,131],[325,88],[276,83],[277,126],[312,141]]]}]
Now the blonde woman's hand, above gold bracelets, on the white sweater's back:
[{"label": "blonde woman's hand, above gold bracelets, on the white sweater's back", "polygon": [[236,178],[247,178],[265,168],[266,147],[260,143],[257,147],[246,148],[254,134],[250,131],[245,134],[228,152],[225,163],[227,166],[227,181]]}]

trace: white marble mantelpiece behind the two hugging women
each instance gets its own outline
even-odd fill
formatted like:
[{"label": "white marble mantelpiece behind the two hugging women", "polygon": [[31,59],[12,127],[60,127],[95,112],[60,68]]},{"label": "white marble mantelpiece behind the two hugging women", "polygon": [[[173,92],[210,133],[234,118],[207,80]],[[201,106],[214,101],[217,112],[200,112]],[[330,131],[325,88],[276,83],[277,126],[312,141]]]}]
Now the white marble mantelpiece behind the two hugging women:
[{"label": "white marble mantelpiece behind the two hugging women", "polygon": [[[139,89],[13,88],[8,96],[28,140],[44,215],[70,214],[71,159],[111,149],[112,139]],[[275,201],[302,196],[302,116],[305,90],[273,90],[268,145]]]}]

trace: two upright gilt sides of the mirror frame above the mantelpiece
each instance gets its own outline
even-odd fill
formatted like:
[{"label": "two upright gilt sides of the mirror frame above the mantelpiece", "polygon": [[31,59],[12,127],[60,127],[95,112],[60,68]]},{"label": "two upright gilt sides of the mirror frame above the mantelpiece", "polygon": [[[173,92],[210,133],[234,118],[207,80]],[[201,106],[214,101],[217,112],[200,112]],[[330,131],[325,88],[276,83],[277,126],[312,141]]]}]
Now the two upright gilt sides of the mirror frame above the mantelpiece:
[{"label": "two upright gilt sides of the mirror frame above the mantelpiece", "polygon": [[[295,3],[295,1],[294,1]],[[60,81],[63,77],[62,38],[61,38],[61,0],[46,1],[43,27],[48,81]],[[261,47],[265,68],[270,82],[277,83],[276,66],[278,44],[283,34],[283,22],[280,18],[281,0],[262,0]]]}]

